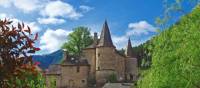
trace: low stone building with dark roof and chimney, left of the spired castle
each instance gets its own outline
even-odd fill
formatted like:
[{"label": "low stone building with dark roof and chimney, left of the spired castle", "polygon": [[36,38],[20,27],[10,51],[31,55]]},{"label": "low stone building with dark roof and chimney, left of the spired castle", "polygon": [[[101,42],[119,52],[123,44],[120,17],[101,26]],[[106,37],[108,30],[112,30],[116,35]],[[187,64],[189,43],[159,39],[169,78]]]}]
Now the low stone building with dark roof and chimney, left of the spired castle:
[{"label": "low stone building with dark roof and chimney, left of the spired castle", "polygon": [[[64,57],[66,54],[64,54]],[[87,88],[90,65],[86,60],[64,58],[62,64],[51,65],[46,71],[47,88]],[[68,60],[69,59],[69,60]]]}]

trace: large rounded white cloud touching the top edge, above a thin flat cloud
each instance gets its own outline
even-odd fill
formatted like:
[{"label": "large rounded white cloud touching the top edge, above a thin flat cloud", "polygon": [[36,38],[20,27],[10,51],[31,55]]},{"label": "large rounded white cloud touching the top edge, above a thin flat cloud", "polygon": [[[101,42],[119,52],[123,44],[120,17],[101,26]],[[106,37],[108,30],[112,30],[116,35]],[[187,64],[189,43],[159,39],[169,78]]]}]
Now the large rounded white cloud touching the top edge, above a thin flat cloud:
[{"label": "large rounded white cloud touching the top edge, above a thin flat cloud", "polygon": [[41,14],[49,17],[65,17],[73,20],[77,20],[83,15],[75,10],[75,8],[62,1],[51,1],[49,2]]}]

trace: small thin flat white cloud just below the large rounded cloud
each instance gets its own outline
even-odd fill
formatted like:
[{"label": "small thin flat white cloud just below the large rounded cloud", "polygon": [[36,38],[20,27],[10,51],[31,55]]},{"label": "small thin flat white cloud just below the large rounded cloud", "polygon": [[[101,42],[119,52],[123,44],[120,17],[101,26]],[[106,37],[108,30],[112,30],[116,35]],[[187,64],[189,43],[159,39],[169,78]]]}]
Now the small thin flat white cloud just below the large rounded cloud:
[{"label": "small thin flat white cloud just below the large rounded cloud", "polygon": [[40,24],[62,24],[65,22],[64,19],[58,19],[58,18],[54,18],[54,17],[38,18],[37,20]]}]

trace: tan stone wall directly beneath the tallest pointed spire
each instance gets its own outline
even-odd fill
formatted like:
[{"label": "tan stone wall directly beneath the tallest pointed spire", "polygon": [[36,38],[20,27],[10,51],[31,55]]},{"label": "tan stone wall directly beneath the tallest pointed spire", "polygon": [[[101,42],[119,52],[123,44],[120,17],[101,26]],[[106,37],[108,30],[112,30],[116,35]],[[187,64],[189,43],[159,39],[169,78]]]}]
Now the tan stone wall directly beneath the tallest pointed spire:
[{"label": "tan stone wall directly beneath the tallest pointed spire", "polygon": [[120,56],[114,47],[98,47],[96,49],[96,80],[105,83],[111,72],[117,74],[118,81],[124,80],[125,58]]}]

